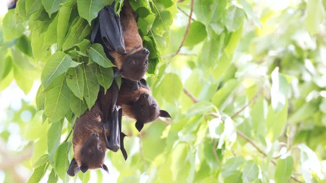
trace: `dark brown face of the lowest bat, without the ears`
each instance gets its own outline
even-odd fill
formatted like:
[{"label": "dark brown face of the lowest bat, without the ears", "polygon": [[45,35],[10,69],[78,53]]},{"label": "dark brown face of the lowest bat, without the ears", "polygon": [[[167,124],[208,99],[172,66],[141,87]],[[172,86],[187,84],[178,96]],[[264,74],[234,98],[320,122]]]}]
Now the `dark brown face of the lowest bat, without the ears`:
[{"label": "dark brown face of the lowest bat, without the ears", "polygon": [[[101,140],[97,133],[90,135],[90,138],[80,148],[80,170],[101,168],[105,157],[105,147],[102,146]],[[83,171],[84,172],[84,171]]]}]

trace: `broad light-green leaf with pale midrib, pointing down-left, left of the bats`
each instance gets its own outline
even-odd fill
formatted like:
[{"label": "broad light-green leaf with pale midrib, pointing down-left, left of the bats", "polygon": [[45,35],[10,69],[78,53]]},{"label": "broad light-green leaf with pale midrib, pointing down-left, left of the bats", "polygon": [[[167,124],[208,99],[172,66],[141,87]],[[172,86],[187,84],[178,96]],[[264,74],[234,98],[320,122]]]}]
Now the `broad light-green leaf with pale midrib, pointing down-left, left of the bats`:
[{"label": "broad light-green leaf with pale midrib, pointing down-left, left of the bats", "polygon": [[71,57],[64,52],[58,51],[52,54],[47,59],[41,74],[42,85],[46,87],[53,79],[66,72],[71,62]]}]

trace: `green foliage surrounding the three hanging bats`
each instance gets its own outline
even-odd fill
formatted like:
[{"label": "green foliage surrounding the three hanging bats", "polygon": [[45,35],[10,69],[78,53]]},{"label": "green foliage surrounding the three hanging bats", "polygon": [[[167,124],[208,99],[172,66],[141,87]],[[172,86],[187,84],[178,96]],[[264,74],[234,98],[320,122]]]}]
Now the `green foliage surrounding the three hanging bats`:
[{"label": "green foliage surrounding the three hanging bats", "polygon": [[[0,20],[0,90],[14,80],[27,95],[41,83],[35,102],[23,101],[0,128],[7,141],[17,123],[34,142],[33,156],[21,163],[31,170],[29,182],[112,178],[100,170],[66,174],[75,117],[94,105],[100,86],[112,84],[114,65],[89,41],[98,11],[112,2],[19,0]],[[150,50],[147,83],[172,118],[142,133],[123,118],[128,160],[113,152],[106,159],[118,182],[325,181],[324,1],[277,9],[194,0],[189,26],[191,0],[129,2]],[[122,4],[116,1],[116,12]],[[27,123],[24,111],[33,116]],[[6,182],[13,182],[10,171]]]}]

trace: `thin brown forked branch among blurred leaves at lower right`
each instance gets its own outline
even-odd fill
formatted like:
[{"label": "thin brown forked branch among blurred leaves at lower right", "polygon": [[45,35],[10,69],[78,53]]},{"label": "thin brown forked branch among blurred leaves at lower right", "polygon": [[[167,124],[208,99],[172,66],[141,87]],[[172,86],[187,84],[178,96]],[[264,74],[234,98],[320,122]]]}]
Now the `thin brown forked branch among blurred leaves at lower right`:
[{"label": "thin brown forked branch among blurred leaves at lower right", "polygon": [[[262,90],[263,90],[263,86],[259,89],[259,91],[257,92],[257,94],[248,102],[248,104],[247,105],[245,105],[245,106],[243,106],[238,112],[236,112],[235,114],[233,114],[232,115],[232,117],[231,118],[233,118],[233,117],[236,117],[241,111],[243,111],[247,106],[249,106],[252,102],[254,102],[257,98],[258,98],[258,96],[262,93]],[[183,91],[184,91],[184,93],[187,95],[187,96],[189,96],[193,101],[194,101],[194,103],[197,103],[198,102],[198,99],[196,99],[195,97],[194,97],[194,95],[193,94],[191,94],[187,89],[185,89],[185,88],[183,88]],[[212,116],[214,116],[214,117],[216,117],[216,118],[219,118],[220,116],[218,116],[216,113],[213,113],[213,112],[210,112],[209,113],[210,115],[212,115]],[[260,154],[262,154],[264,157],[267,157],[267,154],[265,154],[264,153],[264,151],[263,150],[261,150],[257,145],[256,145],[256,143],[254,142],[254,141],[252,141],[249,137],[247,137],[246,135],[244,135],[242,132],[240,132],[240,131],[236,131],[236,134],[238,135],[238,136],[240,136],[240,137],[242,137],[244,140],[246,140],[247,142],[249,142],[252,146],[254,146],[258,151],[259,151],[259,153]],[[215,140],[216,141],[216,140]],[[216,152],[215,152],[215,150],[214,150],[214,148],[213,148],[213,154],[214,154],[214,156],[215,156],[215,154],[216,154]],[[215,159],[216,159],[216,157],[215,157]],[[276,162],[274,161],[274,160],[271,160],[271,163],[273,163],[273,165],[275,165],[276,166]],[[300,183],[303,183],[302,181],[300,181],[300,180],[298,180],[297,178],[295,178],[294,177],[294,175],[292,175],[291,174],[291,178],[294,180],[294,181],[296,181],[296,182],[300,182]]]}]

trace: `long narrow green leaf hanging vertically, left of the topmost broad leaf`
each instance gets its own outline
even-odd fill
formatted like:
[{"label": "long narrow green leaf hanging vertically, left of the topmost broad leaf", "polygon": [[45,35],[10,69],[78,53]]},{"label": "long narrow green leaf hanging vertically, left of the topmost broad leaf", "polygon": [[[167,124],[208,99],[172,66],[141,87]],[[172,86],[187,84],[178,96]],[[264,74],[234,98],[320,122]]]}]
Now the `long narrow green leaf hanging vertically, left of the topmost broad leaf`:
[{"label": "long narrow green leaf hanging vertically, left of the topmost broad leaf", "polygon": [[[73,1],[71,1],[71,2],[73,2]],[[67,30],[68,30],[69,19],[71,19],[70,15],[74,8],[76,8],[76,7],[73,4],[71,6],[62,6],[59,10],[58,27],[57,27],[59,48],[62,47],[62,45],[65,41]]]}]

